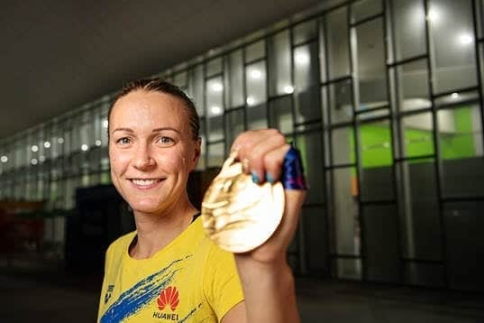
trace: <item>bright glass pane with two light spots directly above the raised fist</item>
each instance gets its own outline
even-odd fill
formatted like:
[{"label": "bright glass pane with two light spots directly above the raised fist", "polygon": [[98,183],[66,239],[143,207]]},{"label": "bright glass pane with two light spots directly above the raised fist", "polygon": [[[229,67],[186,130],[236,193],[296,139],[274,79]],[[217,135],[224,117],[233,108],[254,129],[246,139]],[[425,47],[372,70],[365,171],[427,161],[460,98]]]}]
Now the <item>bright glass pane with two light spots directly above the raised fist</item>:
[{"label": "bright glass pane with two light spots directly above the raised fist", "polygon": [[267,73],[265,61],[253,63],[245,68],[247,106],[258,106],[267,100]]}]

